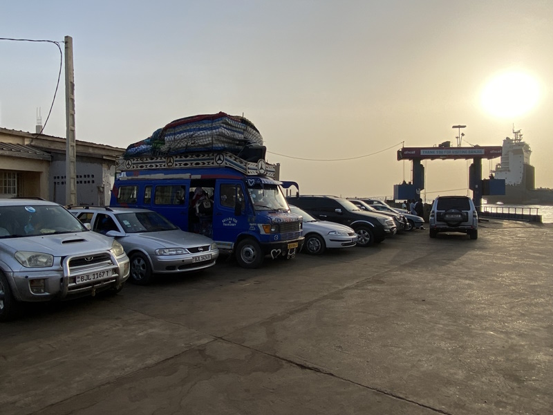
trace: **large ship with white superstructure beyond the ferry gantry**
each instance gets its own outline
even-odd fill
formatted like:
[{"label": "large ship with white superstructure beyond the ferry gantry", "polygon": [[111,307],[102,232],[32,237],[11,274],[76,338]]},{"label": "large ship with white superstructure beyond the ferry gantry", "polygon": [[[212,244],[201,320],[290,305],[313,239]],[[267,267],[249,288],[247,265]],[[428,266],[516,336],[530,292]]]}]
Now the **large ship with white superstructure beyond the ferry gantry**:
[{"label": "large ship with white superstructure beyond the ferry gantry", "polygon": [[503,140],[500,163],[491,173],[505,179],[505,194],[485,196],[487,203],[509,205],[553,205],[553,189],[535,187],[535,169],[530,165],[532,150],[523,141],[521,130],[513,129],[513,138]]}]

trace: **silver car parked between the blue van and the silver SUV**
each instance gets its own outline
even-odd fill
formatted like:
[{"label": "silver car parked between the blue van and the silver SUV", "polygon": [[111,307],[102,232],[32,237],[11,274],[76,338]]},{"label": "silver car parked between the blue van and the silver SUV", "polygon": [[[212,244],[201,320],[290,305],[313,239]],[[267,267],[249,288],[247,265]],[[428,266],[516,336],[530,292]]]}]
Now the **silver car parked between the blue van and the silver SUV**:
[{"label": "silver car parked between the blue van and the silver SUV", "polygon": [[215,265],[219,250],[208,237],[177,228],[147,209],[75,206],[69,212],[93,231],[114,237],[131,259],[133,284],[149,284],[158,273],[183,273]]}]

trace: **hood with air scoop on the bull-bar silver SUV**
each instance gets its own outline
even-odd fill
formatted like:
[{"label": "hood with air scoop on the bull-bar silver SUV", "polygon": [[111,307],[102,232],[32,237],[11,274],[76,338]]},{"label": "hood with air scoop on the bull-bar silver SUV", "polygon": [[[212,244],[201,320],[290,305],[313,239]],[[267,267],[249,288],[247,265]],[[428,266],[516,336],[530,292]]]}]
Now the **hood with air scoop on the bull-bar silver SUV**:
[{"label": "hood with air scoop on the bull-bar silver SUV", "polygon": [[109,250],[112,243],[113,239],[91,231],[0,239],[0,244],[12,253],[17,251],[42,252],[55,257]]}]

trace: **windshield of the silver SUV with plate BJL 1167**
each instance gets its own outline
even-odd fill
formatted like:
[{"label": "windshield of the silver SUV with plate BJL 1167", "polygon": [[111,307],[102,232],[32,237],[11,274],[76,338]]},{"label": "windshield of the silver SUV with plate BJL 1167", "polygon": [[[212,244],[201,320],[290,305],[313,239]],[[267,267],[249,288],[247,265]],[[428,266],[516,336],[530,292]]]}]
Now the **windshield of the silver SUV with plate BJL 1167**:
[{"label": "windshield of the silver SUV with plate BJL 1167", "polygon": [[33,205],[31,202],[0,207],[0,238],[84,231],[82,223],[59,205]]}]

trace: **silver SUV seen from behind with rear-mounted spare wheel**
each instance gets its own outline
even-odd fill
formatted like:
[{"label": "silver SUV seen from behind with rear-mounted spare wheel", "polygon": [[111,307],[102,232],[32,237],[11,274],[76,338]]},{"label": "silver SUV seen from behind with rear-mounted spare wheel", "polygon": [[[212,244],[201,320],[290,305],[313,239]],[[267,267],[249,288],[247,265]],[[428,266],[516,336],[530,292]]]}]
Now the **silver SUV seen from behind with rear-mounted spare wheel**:
[{"label": "silver SUV seen from behind with rear-mounted spare wheel", "polygon": [[469,196],[438,196],[429,221],[431,238],[438,232],[463,232],[478,239],[478,212]]}]

